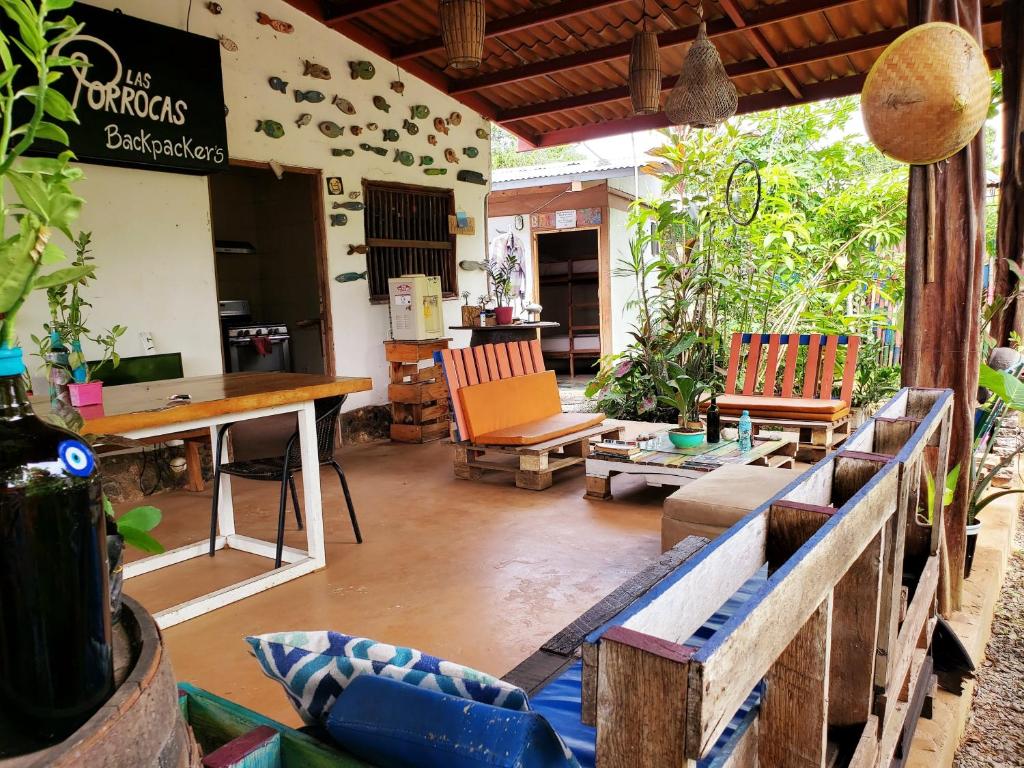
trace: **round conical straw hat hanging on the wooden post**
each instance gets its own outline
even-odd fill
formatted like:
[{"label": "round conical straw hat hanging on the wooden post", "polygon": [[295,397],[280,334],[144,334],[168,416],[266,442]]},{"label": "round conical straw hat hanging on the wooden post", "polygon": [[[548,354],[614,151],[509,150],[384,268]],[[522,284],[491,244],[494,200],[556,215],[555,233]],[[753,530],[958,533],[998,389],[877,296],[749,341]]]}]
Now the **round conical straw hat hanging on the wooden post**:
[{"label": "round conical straw hat hanging on the wooden post", "polygon": [[938,163],[970,143],[988,115],[985,54],[962,27],[914,27],[886,48],[860,94],[864,128],[893,160]]}]

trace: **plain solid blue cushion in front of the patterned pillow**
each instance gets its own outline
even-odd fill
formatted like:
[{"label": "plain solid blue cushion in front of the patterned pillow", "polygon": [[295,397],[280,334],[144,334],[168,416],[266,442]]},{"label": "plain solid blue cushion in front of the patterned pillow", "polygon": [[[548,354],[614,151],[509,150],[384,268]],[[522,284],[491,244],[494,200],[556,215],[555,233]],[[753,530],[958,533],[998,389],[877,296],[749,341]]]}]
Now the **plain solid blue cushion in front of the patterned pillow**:
[{"label": "plain solid blue cushion in front of the patterned pillow", "polygon": [[327,730],[379,768],[579,768],[548,721],[383,677],[353,680]]}]

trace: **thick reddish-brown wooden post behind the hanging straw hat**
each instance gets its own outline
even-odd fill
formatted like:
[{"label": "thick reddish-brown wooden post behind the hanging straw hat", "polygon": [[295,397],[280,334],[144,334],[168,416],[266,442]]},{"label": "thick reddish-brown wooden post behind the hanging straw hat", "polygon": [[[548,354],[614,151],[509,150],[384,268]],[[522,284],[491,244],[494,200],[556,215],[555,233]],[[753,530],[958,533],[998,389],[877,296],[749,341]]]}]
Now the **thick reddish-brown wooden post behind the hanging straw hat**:
[{"label": "thick reddish-brown wooden post behind the hanging straw hat", "polygon": [[[907,14],[911,26],[950,22],[981,42],[980,0],[908,0]],[[930,194],[930,177],[934,194]],[[984,203],[984,131],[952,158],[910,168],[903,383],[950,387],[955,393],[950,467],[971,464],[981,356]],[[929,273],[929,263],[934,264],[934,274]],[[953,608],[959,607],[963,591],[969,492],[965,476],[945,516]]]}]

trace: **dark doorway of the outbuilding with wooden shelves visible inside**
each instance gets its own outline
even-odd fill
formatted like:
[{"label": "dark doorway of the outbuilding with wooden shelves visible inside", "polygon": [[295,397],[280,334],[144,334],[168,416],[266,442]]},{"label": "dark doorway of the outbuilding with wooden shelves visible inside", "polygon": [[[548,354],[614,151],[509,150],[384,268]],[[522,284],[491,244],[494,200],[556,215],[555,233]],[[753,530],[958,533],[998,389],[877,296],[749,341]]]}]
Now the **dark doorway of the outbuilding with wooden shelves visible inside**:
[{"label": "dark doorway of the outbuilding with wooden shelves visible inside", "polygon": [[559,324],[542,336],[544,360],[569,378],[594,373],[601,356],[598,230],[537,234],[537,274],[544,318]]}]

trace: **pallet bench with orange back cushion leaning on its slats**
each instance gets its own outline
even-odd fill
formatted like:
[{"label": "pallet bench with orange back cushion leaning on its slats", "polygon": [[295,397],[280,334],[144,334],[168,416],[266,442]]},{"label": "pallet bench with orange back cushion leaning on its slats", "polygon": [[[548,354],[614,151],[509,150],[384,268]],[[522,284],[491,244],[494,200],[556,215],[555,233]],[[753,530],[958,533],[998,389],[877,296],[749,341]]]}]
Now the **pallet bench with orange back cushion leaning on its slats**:
[{"label": "pallet bench with orange back cushion leaning on its slats", "polygon": [[555,472],[587,460],[592,441],[622,434],[600,415],[561,413],[537,340],[444,349],[435,359],[451,395],[456,477],[512,472],[517,487],[544,490]]}]

